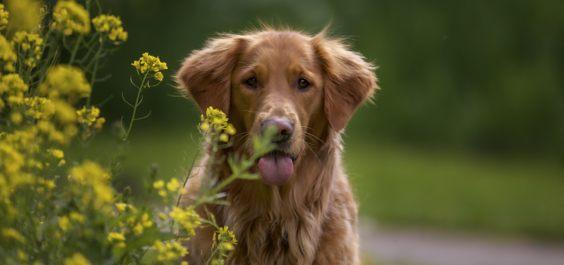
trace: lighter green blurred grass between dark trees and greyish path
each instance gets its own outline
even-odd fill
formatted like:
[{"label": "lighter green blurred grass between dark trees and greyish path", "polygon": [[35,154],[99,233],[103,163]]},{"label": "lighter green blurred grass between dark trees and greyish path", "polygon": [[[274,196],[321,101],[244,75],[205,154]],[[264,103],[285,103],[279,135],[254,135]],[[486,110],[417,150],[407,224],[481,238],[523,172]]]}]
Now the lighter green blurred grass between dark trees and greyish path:
[{"label": "lighter green blurred grass between dark trees and greyish path", "polygon": [[[194,133],[133,130],[129,157],[116,186],[140,190],[140,180],[153,162],[159,164],[163,179],[180,172],[184,153],[194,152],[190,131]],[[110,149],[107,138],[100,139],[92,145],[92,154]],[[345,167],[361,215],[385,225],[564,240],[564,168],[556,162],[468,156],[354,139],[359,138],[345,137]]]}]

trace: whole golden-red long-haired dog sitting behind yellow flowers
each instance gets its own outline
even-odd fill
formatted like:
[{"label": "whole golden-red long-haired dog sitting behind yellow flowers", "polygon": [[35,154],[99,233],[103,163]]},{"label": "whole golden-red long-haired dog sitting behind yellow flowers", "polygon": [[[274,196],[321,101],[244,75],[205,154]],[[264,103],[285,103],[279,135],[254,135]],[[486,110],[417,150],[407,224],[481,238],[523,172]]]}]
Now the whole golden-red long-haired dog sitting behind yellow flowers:
[{"label": "whole golden-red long-haired dog sitting behind yellow flowers", "polygon": [[[224,152],[249,153],[252,135],[278,128],[275,151],[253,167],[261,180],[238,180],[224,190],[231,205],[207,206],[219,225],[236,227],[231,264],[359,264],[340,132],[378,89],[374,70],[324,31],[271,27],[212,38],[184,61],[176,75],[182,90],[204,115],[207,107],[222,109],[242,132]],[[229,176],[229,166],[218,167],[220,179]],[[197,192],[203,174],[187,192]],[[210,257],[214,230],[196,230],[189,264]]]}]

